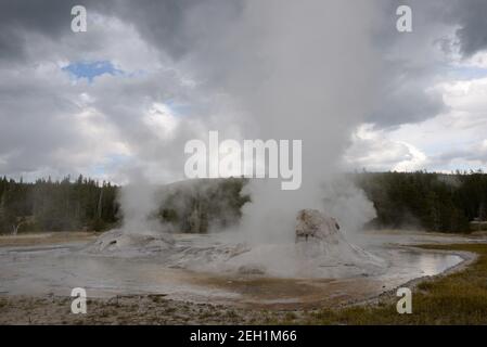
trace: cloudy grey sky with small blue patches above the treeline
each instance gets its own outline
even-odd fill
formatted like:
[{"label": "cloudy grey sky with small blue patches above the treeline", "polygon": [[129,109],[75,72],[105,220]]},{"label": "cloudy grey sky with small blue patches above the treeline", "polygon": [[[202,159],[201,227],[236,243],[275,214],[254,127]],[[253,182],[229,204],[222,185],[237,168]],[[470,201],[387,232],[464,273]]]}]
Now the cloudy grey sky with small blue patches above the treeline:
[{"label": "cloudy grey sky with small blue patches above the treeline", "polygon": [[487,1],[335,2],[0,0],[0,175],[170,181],[209,129],[330,128],[308,143],[348,170],[485,168]]}]

